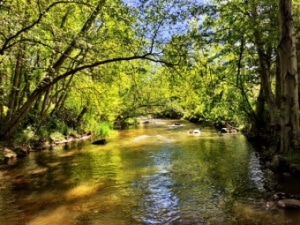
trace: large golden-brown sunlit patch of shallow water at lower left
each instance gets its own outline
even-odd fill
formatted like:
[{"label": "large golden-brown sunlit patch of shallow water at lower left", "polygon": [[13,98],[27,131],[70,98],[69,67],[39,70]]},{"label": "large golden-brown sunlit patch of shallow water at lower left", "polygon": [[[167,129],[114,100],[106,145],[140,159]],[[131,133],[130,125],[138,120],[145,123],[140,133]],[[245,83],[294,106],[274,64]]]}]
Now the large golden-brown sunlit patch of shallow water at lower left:
[{"label": "large golden-brown sunlit patch of shallow water at lower left", "polygon": [[[33,217],[27,213],[26,218],[29,222],[26,224],[84,224],[84,221],[89,219],[85,217],[116,210],[121,205],[121,199],[115,194],[101,195],[101,191],[105,187],[106,182],[103,181],[102,184],[97,185],[79,184],[65,193],[48,191],[41,194],[31,194],[22,204],[27,212],[36,213]],[[43,209],[45,208],[45,203],[47,203],[48,207]],[[81,222],[78,223],[78,221]]]}]

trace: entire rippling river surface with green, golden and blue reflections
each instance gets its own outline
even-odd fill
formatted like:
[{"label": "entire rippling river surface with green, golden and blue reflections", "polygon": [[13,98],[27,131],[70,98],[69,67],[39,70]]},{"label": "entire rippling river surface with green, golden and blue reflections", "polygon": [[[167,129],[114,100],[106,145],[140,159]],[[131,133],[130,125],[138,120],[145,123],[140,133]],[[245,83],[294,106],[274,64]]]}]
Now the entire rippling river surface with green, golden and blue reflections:
[{"label": "entire rippling river surface with green, golden and blue reflections", "polygon": [[2,165],[0,224],[300,224],[299,211],[266,207],[272,176],[243,135],[175,122],[152,120],[105,146],[76,143]]}]

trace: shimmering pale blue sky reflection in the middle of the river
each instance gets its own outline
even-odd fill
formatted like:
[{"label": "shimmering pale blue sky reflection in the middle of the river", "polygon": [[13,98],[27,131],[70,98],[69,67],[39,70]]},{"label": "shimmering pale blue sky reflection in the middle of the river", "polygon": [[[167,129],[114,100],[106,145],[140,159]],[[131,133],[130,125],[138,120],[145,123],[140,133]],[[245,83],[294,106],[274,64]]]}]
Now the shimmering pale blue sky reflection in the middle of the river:
[{"label": "shimmering pale blue sky reflection in the middle of the river", "polygon": [[146,224],[172,224],[179,218],[179,199],[172,190],[175,183],[170,176],[171,152],[166,149],[151,155],[149,166],[155,168],[154,174],[135,183],[135,188],[143,193],[136,217]]}]

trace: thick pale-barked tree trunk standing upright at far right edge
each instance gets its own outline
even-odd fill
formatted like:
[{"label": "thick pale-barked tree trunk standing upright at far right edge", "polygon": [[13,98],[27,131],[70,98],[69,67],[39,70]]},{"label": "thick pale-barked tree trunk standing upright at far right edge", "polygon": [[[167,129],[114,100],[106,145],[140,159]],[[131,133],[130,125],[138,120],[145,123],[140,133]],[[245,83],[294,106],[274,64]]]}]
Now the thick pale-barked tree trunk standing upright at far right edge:
[{"label": "thick pale-barked tree trunk standing upright at far right edge", "polygon": [[291,151],[299,134],[298,76],[292,0],[279,0],[280,42],[278,46],[281,106],[280,152]]}]

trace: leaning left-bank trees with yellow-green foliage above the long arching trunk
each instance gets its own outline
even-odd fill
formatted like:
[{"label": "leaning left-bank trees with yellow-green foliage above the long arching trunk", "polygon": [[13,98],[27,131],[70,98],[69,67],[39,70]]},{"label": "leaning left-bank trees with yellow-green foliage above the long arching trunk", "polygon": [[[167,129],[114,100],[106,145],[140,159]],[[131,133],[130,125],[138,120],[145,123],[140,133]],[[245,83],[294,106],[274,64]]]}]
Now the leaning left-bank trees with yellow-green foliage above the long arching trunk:
[{"label": "leaning left-bank trees with yellow-green foliage above the long arching trunk", "polygon": [[1,89],[6,98],[1,102],[1,138],[11,137],[30,113],[42,118],[53,101],[62,106],[75,74],[84,76],[120,61],[160,61],[151,45],[147,49],[137,39],[130,14],[115,1],[3,2],[6,29],[0,53],[2,65],[9,67],[2,67],[7,76],[1,82],[9,85]]}]

